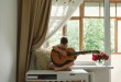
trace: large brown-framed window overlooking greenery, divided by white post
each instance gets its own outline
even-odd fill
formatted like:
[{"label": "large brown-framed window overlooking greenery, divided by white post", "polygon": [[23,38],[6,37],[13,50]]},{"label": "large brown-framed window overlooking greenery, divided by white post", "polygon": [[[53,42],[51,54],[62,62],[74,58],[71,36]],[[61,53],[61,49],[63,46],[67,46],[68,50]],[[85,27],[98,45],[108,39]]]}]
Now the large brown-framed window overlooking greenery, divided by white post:
[{"label": "large brown-framed window overlooking greenery, divided by white post", "polygon": [[[110,2],[110,31],[111,31],[111,52],[121,54],[121,2],[117,0]],[[94,12],[95,11],[95,12]],[[59,37],[67,36],[68,46],[75,50],[105,50],[105,27],[103,27],[103,1],[85,0],[67,24],[59,30]],[[54,35],[58,38],[57,35]],[[53,42],[53,40],[52,40]],[[56,42],[55,42],[56,43]],[[54,42],[52,43],[54,44]],[[86,57],[86,56],[85,56]],[[88,58],[90,59],[90,58]],[[81,56],[77,61],[81,60]],[[85,61],[86,58],[82,58]],[[90,59],[91,60],[91,59]],[[87,61],[90,61],[87,60]]]}]

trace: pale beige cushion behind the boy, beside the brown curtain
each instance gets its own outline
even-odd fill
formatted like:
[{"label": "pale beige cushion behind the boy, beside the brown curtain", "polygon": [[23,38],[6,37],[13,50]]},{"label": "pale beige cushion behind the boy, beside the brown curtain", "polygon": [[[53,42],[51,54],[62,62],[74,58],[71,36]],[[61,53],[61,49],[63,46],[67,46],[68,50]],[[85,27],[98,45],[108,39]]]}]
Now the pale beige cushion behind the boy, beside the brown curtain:
[{"label": "pale beige cushion behind the boy, beside the brown curtain", "polygon": [[51,50],[40,48],[34,51],[36,59],[37,70],[48,70],[48,63],[51,62]]}]

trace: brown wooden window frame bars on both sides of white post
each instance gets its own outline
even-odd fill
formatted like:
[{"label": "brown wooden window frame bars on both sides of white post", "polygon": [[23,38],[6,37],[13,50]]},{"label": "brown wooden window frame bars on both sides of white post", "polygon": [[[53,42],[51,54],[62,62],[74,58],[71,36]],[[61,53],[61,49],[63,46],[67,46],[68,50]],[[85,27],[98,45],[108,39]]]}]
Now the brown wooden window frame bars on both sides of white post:
[{"label": "brown wooden window frame bars on both sides of white post", "polygon": [[[99,5],[101,5],[103,0],[85,0],[84,3],[79,7],[79,16],[72,16],[70,20],[79,20],[79,50],[82,51],[84,50],[84,19],[85,17],[92,17],[92,19],[105,19],[105,16],[101,15],[101,7],[99,7],[99,16],[85,16],[85,2],[98,2]],[[117,16],[117,3],[121,3],[121,1],[117,1],[117,0],[111,0],[110,3],[113,3],[116,7],[116,15],[114,16],[110,16],[110,19],[114,19],[114,20],[121,20],[121,16]],[[117,31],[117,26],[118,23],[114,23],[114,33],[118,33]],[[63,32],[63,36],[66,35],[66,25],[63,27],[62,30]],[[118,52],[118,34],[114,34],[114,52],[117,55],[121,55],[121,52]]]}]

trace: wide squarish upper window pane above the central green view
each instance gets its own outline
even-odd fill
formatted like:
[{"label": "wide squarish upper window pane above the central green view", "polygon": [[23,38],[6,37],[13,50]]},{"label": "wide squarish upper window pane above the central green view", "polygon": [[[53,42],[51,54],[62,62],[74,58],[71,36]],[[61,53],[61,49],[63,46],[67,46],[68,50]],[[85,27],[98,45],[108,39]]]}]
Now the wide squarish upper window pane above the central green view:
[{"label": "wide squarish upper window pane above the central green view", "polygon": [[85,2],[85,16],[99,16],[99,2]]}]

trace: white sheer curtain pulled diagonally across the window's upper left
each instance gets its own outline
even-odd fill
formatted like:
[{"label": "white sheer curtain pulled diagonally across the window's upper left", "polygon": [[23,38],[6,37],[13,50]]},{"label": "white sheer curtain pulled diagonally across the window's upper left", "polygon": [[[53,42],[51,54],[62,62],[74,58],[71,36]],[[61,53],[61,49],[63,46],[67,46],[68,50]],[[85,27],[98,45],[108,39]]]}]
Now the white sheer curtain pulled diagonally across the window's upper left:
[{"label": "white sheer curtain pulled diagonally across the window's upper left", "polygon": [[53,36],[57,30],[64,26],[82,2],[84,0],[53,0],[48,32],[45,42]]}]

